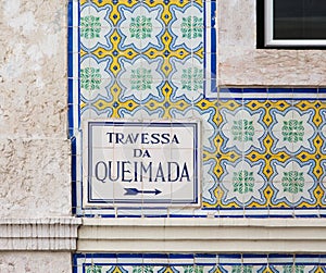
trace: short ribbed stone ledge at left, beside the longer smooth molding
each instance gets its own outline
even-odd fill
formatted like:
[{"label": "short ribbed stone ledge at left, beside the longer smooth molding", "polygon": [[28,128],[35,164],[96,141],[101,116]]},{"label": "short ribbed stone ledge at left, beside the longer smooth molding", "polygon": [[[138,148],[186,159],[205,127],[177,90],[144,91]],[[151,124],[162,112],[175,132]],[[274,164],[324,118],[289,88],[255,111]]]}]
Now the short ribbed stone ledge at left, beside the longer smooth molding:
[{"label": "short ribbed stone ledge at left, beside the longer smooth molding", "polygon": [[0,219],[0,250],[75,250],[80,219]]}]

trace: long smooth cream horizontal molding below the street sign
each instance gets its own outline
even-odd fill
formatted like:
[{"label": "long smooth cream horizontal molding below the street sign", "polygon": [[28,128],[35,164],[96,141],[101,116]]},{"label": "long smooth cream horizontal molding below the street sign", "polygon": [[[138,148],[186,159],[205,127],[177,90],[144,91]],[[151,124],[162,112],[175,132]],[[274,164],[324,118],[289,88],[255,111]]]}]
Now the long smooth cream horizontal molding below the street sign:
[{"label": "long smooth cream horizontal molding below the street sign", "polygon": [[84,219],[77,251],[326,253],[324,219]]}]

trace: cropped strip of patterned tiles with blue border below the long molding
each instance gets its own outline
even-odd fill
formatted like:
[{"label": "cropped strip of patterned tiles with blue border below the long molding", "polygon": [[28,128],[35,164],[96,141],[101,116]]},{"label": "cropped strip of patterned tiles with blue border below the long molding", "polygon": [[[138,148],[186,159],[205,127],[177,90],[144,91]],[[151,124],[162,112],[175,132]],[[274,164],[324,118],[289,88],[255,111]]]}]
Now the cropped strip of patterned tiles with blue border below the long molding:
[{"label": "cropped strip of patterned tiles with blue border below the long molding", "polygon": [[74,273],[317,273],[325,272],[317,255],[74,255]]}]

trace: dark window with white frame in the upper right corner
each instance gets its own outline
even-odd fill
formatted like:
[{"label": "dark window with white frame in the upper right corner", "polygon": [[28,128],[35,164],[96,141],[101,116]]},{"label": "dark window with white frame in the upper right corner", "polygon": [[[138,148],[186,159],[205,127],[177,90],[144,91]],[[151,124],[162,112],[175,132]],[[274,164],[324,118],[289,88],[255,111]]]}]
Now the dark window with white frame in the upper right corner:
[{"label": "dark window with white frame in the upper right corner", "polygon": [[325,0],[258,0],[258,11],[263,47],[326,47]]}]

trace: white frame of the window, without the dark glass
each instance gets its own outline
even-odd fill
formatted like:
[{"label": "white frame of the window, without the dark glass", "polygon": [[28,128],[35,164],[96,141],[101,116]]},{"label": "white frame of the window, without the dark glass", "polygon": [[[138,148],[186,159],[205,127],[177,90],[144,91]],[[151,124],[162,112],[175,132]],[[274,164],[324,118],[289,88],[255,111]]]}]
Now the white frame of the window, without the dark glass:
[{"label": "white frame of the window, without the dark glass", "polygon": [[265,47],[325,47],[326,39],[274,39],[274,24],[273,24],[273,2],[274,0],[265,1]]}]

